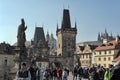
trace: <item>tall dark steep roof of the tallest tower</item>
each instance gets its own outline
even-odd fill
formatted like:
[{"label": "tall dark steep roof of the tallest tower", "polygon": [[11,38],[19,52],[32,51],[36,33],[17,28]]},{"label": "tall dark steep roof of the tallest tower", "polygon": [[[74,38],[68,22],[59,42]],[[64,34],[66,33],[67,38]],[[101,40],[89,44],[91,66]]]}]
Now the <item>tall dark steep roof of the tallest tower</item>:
[{"label": "tall dark steep roof of the tallest tower", "polygon": [[70,14],[68,9],[63,10],[62,29],[71,28]]}]

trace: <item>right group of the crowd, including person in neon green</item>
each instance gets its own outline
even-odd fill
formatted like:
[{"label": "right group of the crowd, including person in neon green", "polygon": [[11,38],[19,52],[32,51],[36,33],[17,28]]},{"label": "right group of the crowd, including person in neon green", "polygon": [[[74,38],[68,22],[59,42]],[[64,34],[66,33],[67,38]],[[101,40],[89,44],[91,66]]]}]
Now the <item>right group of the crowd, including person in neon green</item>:
[{"label": "right group of the crowd, including person in neon green", "polygon": [[[79,79],[78,79],[79,77]],[[120,80],[120,62],[115,66],[109,65],[109,68],[103,66],[94,66],[82,68],[81,66],[75,66],[73,70],[73,80]]]}]

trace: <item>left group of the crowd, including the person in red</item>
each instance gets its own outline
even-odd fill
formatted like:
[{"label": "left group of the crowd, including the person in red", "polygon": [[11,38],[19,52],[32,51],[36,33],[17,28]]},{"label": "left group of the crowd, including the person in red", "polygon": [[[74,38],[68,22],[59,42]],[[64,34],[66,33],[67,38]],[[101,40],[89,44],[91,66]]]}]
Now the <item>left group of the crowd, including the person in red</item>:
[{"label": "left group of the crowd, including the person in red", "polygon": [[20,70],[16,74],[16,80],[68,80],[69,70],[60,67],[54,69],[38,68],[32,64],[29,68],[26,67],[25,63],[21,64]]}]

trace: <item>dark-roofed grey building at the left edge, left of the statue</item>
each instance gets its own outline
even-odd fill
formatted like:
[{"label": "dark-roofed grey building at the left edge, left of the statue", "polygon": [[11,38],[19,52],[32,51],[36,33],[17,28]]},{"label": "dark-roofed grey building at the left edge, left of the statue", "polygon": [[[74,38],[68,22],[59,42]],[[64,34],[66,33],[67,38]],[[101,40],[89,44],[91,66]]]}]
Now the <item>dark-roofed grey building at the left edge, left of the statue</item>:
[{"label": "dark-roofed grey building at the left edge, left of the statue", "polygon": [[5,63],[7,66],[10,66],[11,68],[14,67],[15,65],[14,59],[15,59],[14,47],[5,42],[0,43],[0,68]]}]

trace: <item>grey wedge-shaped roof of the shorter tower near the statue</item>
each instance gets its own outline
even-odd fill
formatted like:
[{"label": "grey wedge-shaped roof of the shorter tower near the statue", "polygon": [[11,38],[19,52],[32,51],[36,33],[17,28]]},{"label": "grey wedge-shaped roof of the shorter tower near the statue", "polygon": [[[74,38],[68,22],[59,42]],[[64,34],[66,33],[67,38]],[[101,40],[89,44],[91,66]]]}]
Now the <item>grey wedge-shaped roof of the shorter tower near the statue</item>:
[{"label": "grey wedge-shaped roof of the shorter tower near the statue", "polygon": [[34,34],[34,46],[37,45],[38,41],[41,40],[45,43],[45,35],[43,27],[36,27],[35,34]]}]

